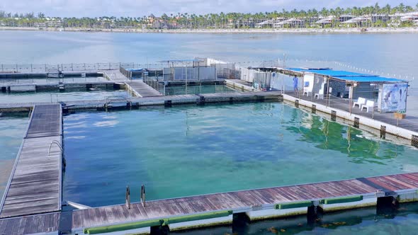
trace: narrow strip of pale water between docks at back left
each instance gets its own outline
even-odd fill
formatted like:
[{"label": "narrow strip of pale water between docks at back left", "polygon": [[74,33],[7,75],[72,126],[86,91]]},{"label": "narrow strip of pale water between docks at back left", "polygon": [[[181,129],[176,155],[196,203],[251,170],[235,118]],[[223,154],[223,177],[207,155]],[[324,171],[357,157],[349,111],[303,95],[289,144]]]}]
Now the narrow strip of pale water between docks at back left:
[{"label": "narrow strip of pale water between docks at back left", "polygon": [[0,93],[0,103],[27,103],[27,102],[59,102],[59,101],[89,101],[106,100],[106,98],[128,98],[125,90],[98,90],[73,92],[11,92]]}]

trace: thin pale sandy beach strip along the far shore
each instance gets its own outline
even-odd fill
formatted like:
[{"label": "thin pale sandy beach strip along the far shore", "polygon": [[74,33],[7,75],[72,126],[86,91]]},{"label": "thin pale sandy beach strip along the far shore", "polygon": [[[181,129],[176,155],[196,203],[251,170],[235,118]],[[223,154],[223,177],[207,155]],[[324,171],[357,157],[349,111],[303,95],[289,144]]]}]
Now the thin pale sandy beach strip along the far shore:
[{"label": "thin pale sandy beach strip along the far shore", "polygon": [[251,29],[171,29],[171,30],[140,30],[140,29],[106,29],[106,28],[33,28],[33,27],[0,27],[0,30],[16,31],[53,31],[53,32],[85,32],[85,33],[418,33],[417,27],[409,28],[251,28]]}]

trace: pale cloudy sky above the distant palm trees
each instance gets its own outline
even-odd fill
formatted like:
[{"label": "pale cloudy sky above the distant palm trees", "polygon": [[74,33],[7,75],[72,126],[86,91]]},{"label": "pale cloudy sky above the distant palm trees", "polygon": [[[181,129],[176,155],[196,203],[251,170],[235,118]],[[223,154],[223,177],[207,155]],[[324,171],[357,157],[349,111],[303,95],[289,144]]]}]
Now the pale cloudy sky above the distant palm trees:
[{"label": "pale cloudy sky above the distant palm trees", "polygon": [[96,17],[96,16],[161,16],[162,13],[255,13],[281,11],[283,8],[298,10],[322,7],[336,8],[352,6],[416,6],[418,0],[1,0],[0,11],[12,13],[43,12],[46,16]]}]

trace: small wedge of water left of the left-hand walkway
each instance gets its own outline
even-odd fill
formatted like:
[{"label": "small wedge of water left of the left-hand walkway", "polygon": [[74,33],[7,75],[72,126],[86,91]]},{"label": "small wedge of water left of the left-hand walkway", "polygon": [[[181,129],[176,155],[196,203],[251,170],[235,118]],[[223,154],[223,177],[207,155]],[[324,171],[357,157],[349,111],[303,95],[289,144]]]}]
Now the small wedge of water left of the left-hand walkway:
[{"label": "small wedge of water left of the left-hand walkway", "polygon": [[28,127],[28,114],[4,116],[0,113],[0,200]]}]

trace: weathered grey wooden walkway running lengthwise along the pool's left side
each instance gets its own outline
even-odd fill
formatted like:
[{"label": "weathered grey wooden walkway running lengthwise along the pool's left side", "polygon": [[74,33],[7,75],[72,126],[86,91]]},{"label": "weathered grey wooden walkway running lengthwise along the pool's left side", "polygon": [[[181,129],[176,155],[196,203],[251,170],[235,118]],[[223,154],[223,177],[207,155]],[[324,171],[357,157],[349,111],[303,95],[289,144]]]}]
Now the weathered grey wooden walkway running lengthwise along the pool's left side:
[{"label": "weathered grey wooden walkway running lengthwise along the pool's left side", "polygon": [[1,200],[0,218],[61,210],[61,146],[61,105],[36,105]]}]

